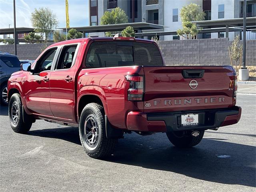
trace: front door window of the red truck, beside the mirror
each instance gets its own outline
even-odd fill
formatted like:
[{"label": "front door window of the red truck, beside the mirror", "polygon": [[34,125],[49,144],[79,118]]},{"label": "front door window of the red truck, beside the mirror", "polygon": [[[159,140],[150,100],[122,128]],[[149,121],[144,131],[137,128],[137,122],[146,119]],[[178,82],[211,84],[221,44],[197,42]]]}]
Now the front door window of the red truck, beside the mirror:
[{"label": "front door window of the red truck, beside the mirror", "polygon": [[50,70],[52,67],[52,62],[56,54],[57,48],[52,48],[48,50],[37,62],[34,69],[34,73],[40,73],[42,71]]}]

